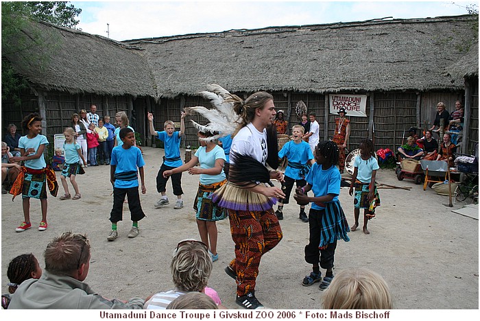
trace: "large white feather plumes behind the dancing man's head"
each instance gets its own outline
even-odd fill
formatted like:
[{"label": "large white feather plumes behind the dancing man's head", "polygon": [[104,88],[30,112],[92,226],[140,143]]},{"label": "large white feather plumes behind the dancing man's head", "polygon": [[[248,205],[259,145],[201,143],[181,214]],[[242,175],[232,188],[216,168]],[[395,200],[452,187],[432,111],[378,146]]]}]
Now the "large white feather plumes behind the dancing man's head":
[{"label": "large white feather plumes behind the dancing man's head", "polygon": [[214,108],[208,109],[204,106],[186,107],[184,108],[185,112],[187,112],[187,114],[197,112],[208,119],[209,123],[205,126],[191,120],[193,126],[195,126],[200,132],[219,132],[219,134],[216,134],[215,136],[201,140],[213,141],[214,139],[233,134],[235,129],[237,129],[238,124],[241,122],[241,117],[235,113],[235,110],[233,110],[232,103],[225,102],[225,99],[230,96],[230,93],[217,84],[208,84],[207,91],[201,91],[198,94],[205,99],[210,100]]}]

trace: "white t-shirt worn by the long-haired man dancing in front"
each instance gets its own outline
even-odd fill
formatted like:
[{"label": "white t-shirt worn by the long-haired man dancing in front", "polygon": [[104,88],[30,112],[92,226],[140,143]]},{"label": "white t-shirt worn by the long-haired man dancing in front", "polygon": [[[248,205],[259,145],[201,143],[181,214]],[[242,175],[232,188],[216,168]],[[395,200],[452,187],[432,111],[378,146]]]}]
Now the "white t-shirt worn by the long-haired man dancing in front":
[{"label": "white t-shirt worn by the long-haired man dancing in front", "polygon": [[[267,131],[263,129],[263,132],[259,132],[252,123],[249,123],[233,138],[230,152],[248,155],[265,165],[268,156]],[[233,164],[232,158],[230,163]]]}]

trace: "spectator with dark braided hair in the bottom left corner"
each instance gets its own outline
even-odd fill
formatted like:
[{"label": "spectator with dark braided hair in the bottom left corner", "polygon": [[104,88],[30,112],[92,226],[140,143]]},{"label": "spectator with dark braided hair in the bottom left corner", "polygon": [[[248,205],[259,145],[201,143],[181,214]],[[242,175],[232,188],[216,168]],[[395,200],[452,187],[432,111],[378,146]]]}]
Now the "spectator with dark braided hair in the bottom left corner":
[{"label": "spectator with dark braided hair in the bottom left corner", "polygon": [[8,264],[7,277],[10,281],[8,283],[9,294],[2,294],[1,307],[7,309],[12,300],[12,296],[16,291],[16,288],[21,283],[29,278],[40,278],[42,276],[42,268],[38,264],[38,260],[34,254],[22,254],[12,259]]}]

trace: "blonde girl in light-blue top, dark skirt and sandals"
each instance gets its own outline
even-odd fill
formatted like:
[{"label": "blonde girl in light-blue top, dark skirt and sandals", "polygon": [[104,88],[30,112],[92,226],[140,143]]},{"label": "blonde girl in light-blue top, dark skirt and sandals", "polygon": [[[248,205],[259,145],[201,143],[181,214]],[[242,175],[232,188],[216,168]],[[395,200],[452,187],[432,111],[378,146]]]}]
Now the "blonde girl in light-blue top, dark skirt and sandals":
[{"label": "blonde girl in light-blue top, dark skirt and sandals", "polygon": [[65,165],[60,179],[62,180],[65,194],[60,196],[60,200],[69,200],[71,198],[69,185],[67,184],[67,177],[70,178],[70,182],[75,190],[75,195],[73,195],[72,200],[79,200],[82,195],[80,195],[80,189],[78,189],[78,184],[75,178],[77,177],[77,174],[85,174],[85,171],[80,164],[80,158],[82,158],[84,165],[86,164],[86,159],[82,154],[82,147],[80,147],[80,144],[75,140],[75,130],[71,127],[67,127],[63,134],[65,136],[65,143],[63,145],[65,150]]}]

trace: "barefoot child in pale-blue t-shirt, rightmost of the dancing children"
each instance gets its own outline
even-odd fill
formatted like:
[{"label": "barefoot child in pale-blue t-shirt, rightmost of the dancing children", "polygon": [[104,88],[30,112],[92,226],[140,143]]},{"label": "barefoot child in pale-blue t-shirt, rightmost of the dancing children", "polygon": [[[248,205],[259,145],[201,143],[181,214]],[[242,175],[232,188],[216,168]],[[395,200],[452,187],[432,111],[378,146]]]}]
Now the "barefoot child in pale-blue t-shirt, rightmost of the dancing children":
[{"label": "barefoot child in pale-blue t-shirt, rightmost of the dancing children", "polygon": [[350,185],[350,196],[355,187],[355,224],[352,231],[359,227],[360,209],[363,209],[363,233],[370,234],[367,230],[368,220],[375,217],[375,208],[380,206],[379,191],[375,187],[376,170],[379,163],[374,156],[374,147],[370,139],[363,139],[360,143],[360,155],[355,157],[352,184]]}]

